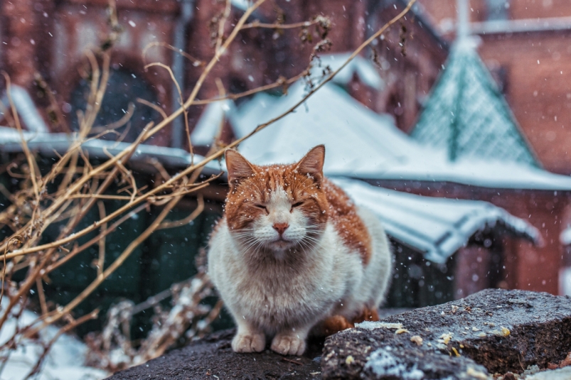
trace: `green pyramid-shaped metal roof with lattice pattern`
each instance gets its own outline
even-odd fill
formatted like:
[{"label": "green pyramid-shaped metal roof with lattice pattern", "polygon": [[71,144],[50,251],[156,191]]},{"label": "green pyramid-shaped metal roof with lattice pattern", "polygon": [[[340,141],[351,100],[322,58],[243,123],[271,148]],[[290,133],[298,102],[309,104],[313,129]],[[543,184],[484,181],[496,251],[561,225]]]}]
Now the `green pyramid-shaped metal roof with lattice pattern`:
[{"label": "green pyramid-shaped metal roof with lattice pattern", "polygon": [[452,48],[411,136],[446,149],[451,161],[471,156],[540,165],[469,41]]}]

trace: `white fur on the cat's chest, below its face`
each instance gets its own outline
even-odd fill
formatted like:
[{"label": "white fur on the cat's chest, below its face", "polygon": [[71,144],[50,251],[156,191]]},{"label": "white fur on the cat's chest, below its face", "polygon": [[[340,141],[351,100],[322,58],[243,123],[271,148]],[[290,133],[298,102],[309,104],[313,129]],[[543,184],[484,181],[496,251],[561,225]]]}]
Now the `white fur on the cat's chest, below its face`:
[{"label": "white fur on the cat's chest, below its face", "polygon": [[284,327],[313,325],[333,309],[351,303],[363,279],[357,252],[343,244],[328,224],[319,244],[302,252],[303,265],[268,266],[252,270],[225,222],[210,241],[208,273],[235,318],[243,318],[267,333]]}]

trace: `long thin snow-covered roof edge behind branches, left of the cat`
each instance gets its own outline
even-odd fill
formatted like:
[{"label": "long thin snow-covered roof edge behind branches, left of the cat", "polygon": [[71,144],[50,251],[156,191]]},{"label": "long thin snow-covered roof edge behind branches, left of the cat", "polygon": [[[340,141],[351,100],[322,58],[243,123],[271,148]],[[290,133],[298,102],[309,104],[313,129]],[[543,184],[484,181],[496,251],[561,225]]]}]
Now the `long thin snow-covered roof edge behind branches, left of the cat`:
[{"label": "long thin snow-covered roof edge behind branches, left of the cat", "polygon": [[[36,134],[28,131],[24,131],[23,134],[30,149],[45,156],[56,156],[55,152],[63,154],[75,142],[74,134]],[[106,152],[115,156],[129,145],[130,143],[90,139],[82,143],[82,149],[89,154],[90,158],[107,159],[109,156]],[[0,126],[0,151],[6,153],[22,151],[18,131]],[[192,159],[191,155],[183,149],[142,144],[137,147],[130,161],[148,162],[153,158],[171,168],[186,168],[191,165]],[[194,163],[202,160],[203,156],[194,155]],[[220,173],[220,171],[220,165],[211,161],[206,164],[204,173]]]}]

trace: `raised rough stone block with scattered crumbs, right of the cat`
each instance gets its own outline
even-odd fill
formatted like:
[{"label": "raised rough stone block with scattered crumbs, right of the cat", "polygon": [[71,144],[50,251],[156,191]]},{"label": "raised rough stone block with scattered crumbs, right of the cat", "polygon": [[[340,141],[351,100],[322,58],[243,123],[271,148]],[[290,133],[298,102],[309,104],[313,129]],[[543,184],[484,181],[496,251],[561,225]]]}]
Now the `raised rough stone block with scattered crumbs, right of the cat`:
[{"label": "raised rough stone block with scattered crumbs, right of the cat", "polygon": [[324,379],[491,379],[544,369],[570,351],[570,298],[488,289],[332,335],[321,372]]}]

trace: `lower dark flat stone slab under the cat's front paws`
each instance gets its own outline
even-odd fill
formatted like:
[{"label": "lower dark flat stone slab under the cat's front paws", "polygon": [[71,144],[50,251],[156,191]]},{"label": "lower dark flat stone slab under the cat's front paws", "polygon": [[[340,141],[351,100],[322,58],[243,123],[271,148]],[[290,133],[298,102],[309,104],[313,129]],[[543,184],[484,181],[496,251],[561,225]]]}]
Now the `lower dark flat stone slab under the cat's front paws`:
[{"label": "lower dark flat stone slab under the cat's front paws", "polygon": [[323,340],[309,342],[303,357],[284,358],[266,349],[236,354],[230,347],[235,330],[224,330],[137,367],[119,371],[109,380],[131,379],[321,379]]}]

